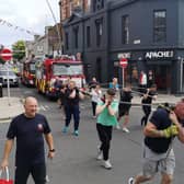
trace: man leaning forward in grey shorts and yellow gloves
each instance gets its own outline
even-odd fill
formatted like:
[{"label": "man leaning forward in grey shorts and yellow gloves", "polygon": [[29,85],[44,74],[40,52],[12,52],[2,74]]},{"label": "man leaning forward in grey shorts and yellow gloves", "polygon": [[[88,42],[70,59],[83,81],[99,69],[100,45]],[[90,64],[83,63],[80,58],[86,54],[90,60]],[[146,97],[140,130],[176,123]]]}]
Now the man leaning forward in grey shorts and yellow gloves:
[{"label": "man leaning forward in grey shorts and yellow gloves", "polygon": [[128,180],[128,184],[140,184],[161,173],[161,184],[173,181],[175,157],[173,139],[175,137],[184,143],[184,100],[174,110],[159,107],[153,112],[143,129],[143,166],[141,174]]}]

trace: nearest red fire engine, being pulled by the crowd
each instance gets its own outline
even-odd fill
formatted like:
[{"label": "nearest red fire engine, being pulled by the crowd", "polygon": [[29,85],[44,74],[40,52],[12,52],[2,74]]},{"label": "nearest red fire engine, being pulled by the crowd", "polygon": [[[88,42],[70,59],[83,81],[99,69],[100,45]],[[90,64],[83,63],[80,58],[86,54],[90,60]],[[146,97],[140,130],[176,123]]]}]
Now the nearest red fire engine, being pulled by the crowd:
[{"label": "nearest red fire engine, being pulled by the crowd", "polygon": [[56,80],[66,83],[70,79],[78,88],[83,88],[85,77],[81,60],[76,60],[72,56],[60,56],[57,58],[46,58],[36,64],[36,88],[41,93],[50,99],[57,99]]}]

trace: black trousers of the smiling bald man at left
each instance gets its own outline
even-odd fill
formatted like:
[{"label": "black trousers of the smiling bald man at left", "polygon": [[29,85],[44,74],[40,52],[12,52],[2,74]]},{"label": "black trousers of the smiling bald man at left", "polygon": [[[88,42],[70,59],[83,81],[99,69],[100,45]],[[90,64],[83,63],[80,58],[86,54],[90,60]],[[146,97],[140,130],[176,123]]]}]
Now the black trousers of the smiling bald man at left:
[{"label": "black trousers of the smiling bald man at left", "polygon": [[46,165],[34,164],[34,165],[20,165],[15,169],[15,184],[26,184],[27,179],[32,175],[35,184],[46,183]]}]

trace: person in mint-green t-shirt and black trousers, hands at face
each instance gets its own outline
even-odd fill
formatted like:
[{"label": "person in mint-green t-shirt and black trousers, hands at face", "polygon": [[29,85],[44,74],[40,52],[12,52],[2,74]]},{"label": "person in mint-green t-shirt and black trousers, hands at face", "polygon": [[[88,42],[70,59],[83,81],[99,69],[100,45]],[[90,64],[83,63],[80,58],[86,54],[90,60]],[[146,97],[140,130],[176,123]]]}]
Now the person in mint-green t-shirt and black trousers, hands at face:
[{"label": "person in mint-green t-shirt and black trousers, hands at face", "polygon": [[115,100],[115,89],[108,89],[105,97],[97,103],[96,106],[96,129],[101,145],[97,147],[97,160],[103,160],[103,166],[105,169],[112,169],[110,162],[110,148],[113,126],[116,126],[117,118],[116,113],[118,110],[118,101]]}]

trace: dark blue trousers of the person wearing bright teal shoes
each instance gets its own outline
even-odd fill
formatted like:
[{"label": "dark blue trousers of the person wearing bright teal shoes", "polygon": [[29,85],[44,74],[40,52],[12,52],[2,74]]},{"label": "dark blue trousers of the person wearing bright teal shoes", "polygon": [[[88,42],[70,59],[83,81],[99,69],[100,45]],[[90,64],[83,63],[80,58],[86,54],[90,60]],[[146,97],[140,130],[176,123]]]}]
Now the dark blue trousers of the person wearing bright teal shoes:
[{"label": "dark blue trousers of the person wearing bright teal shoes", "polygon": [[66,105],[66,126],[67,127],[70,125],[72,115],[74,120],[74,130],[78,130],[79,120],[80,120],[79,105]]}]

